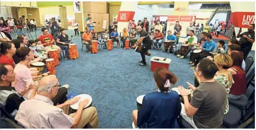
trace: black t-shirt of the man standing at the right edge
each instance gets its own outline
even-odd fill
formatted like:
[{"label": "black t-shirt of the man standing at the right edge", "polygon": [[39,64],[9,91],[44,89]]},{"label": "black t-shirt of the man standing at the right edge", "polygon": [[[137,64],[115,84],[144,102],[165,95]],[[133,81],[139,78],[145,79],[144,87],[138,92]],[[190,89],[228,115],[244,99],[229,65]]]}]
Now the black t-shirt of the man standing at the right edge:
[{"label": "black t-shirt of the man standing at the right edge", "polygon": [[245,34],[248,38],[251,38],[253,40],[255,40],[255,32],[244,32],[242,34],[240,34],[240,40],[239,43],[241,44],[241,48],[245,49],[249,46],[252,46],[253,43],[250,43],[246,38],[243,38],[243,34]]}]

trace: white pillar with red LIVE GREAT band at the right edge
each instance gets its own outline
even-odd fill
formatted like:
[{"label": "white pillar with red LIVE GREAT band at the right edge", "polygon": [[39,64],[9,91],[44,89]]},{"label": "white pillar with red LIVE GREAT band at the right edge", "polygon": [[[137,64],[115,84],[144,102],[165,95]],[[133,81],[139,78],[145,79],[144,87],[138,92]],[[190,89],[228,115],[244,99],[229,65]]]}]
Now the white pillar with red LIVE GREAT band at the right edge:
[{"label": "white pillar with red LIVE GREAT band at the right edge", "polygon": [[[241,6],[242,5],[242,6]],[[255,23],[255,2],[230,2],[231,17],[230,22],[234,23],[235,32],[238,33],[240,27],[242,33],[247,32],[250,23]],[[246,7],[246,8],[245,8]],[[240,38],[237,38],[239,40]],[[253,44],[252,50],[255,50]]]}]

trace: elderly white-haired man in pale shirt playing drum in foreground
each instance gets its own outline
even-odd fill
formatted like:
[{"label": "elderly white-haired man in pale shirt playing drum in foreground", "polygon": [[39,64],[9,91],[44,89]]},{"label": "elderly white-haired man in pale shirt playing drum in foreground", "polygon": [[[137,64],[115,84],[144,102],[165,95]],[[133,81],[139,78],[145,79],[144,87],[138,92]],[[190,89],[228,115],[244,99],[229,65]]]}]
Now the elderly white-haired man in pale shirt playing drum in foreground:
[{"label": "elderly white-haired man in pale shirt playing drum in foreground", "polygon": [[53,105],[54,98],[60,87],[53,75],[45,76],[38,82],[37,94],[33,99],[20,104],[15,120],[24,128],[83,128],[86,124],[98,128],[98,115],[95,107],[84,109],[89,99],[80,101],[76,113],[68,114],[69,105],[79,101],[73,98],[63,104]]}]

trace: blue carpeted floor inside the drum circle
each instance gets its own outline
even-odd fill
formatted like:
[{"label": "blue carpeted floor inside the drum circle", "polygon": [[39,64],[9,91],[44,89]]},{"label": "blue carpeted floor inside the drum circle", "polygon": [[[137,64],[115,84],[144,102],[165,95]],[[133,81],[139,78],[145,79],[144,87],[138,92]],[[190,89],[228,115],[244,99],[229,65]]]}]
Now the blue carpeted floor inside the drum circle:
[{"label": "blue carpeted floor inside the drum circle", "polygon": [[[92,105],[98,111],[100,128],[132,128],[131,113],[137,109],[136,98],[156,90],[153,72],[150,71],[150,57],[146,56],[148,66],[141,67],[138,63],[141,56],[133,49],[117,49],[114,46],[112,51],[100,48],[98,54],[88,54],[85,48],[81,51],[80,37],[75,37],[71,30],[66,32],[69,37],[73,35],[79,58],[60,62],[60,66],[56,67],[59,82],[70,85],[69,93],[90,94]],[[34,33],[32,35],[34,37]],[[160,50],[150,51],[152,56],[171,58],[169,70],[178,77],[175,86],[188,87],[186,81],[194,84],[193,71],[187,64],[188,58],[181,60]],[[254,57],[254,51],[249,55]]]}]

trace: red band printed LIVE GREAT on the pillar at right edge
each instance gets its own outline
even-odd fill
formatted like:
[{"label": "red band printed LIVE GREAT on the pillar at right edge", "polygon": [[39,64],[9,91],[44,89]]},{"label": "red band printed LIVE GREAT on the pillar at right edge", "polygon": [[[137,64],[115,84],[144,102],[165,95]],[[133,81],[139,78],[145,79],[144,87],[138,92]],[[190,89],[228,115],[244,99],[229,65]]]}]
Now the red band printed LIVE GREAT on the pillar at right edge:
[{"label": "red band printed LIVE GREAT on the pillar at right edge", "polygon": [[250,24],[255,24],[254,12],[233,12],[231,13],[231,20],[235,27],[248,28]]}]

